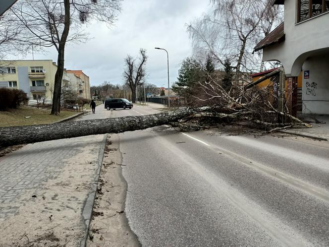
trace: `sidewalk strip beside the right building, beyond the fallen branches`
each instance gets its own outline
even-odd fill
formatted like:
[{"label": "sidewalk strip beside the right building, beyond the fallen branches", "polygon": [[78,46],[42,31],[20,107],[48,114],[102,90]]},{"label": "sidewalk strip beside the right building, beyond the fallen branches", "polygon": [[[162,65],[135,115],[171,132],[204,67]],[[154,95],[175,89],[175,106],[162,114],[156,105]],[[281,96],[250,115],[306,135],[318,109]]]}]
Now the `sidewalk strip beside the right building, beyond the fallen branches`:
[{"label": "sidewalk strip beside the right building, beyond the fallen branches", "polygon": [[312,124],[312,127],[293,127],[280,132],[329,141],[329,115],[302,115],[299,117],[305,123]]}]

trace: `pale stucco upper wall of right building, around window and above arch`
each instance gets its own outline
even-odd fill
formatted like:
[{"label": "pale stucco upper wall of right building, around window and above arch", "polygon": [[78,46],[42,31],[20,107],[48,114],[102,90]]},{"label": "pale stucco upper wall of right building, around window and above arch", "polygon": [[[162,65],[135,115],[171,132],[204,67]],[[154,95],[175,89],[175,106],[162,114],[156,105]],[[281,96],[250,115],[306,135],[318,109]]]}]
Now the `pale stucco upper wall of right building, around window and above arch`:
[{"label": "pale stucco upper wall of right building, around window and above arch", "polygon": [[305,59],[329,50],[329,12],[297,23],[297,0],[284,1],[285,41],[263,49],[263,61],[279,61],[298,76]]}]

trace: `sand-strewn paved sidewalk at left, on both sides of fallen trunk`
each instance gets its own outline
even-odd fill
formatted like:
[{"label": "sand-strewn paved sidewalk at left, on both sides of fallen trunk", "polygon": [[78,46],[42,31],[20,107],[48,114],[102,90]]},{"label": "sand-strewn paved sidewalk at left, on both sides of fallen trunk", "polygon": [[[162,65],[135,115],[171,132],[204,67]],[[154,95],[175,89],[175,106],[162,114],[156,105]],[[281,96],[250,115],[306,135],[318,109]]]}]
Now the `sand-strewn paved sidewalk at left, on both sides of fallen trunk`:
[{"label": "sand-strewn paved sidewalk at left, on both sides of fallen trunk", "polygon": [[1,247],[85,245],[106,136],[28,144],[0,158]]}]

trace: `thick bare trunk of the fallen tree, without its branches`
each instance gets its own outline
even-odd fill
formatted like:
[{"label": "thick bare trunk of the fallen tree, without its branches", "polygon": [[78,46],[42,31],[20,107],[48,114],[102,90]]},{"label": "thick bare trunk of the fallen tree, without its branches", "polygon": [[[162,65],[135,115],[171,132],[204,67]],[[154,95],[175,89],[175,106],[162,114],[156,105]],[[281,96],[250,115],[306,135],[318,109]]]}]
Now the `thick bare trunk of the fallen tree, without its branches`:
[{"label": "thick bare trunk of the fallen tree, without its branches", "polygon": [[[204,111],[206,109],[209,108],[200,108],[198,111]],[[94,134],[121,133],[146,129],[178,121],[190,116],[194,112],[196,112],[196,110],[185,108],[173,112],[147,116],[127,116],[57,124],[2,127],[0,128],[0,147]]]}]

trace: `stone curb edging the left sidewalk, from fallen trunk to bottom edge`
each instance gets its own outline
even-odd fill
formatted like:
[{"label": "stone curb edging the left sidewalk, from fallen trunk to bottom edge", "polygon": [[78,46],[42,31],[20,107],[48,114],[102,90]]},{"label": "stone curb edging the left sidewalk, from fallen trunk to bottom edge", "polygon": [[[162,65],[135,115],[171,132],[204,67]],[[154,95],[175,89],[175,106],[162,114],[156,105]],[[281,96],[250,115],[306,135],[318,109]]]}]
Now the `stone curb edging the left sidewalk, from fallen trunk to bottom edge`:
[{"label": "stone curb edging the left sidewalk, from fallen trunk to bottom edge", "polygon": [[85,201],[85,205],[83,206],[82,217],[85,222],[86,230],[85,230],[85,237],[81,240],[80,247],[87,246],[89,227],[90,227],[91,218],[93,217],[94,202],[95,202],[96,191],[98,187],[98,181],[100,179],[100,174],[102,170],[102,163],[103,163],[103,157],[104,157],[104,151],[105,151],[105,145],[107,139],[108,139],[108,134],[105,134],[103,139],[103,145],[101,147],[98,156],[98,167],[97,167],[96,176],[94,178],[94,183],[92,185],[92,192],[88,195],[88,198]]}]

